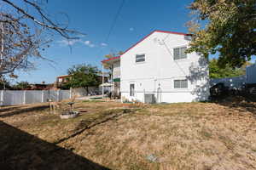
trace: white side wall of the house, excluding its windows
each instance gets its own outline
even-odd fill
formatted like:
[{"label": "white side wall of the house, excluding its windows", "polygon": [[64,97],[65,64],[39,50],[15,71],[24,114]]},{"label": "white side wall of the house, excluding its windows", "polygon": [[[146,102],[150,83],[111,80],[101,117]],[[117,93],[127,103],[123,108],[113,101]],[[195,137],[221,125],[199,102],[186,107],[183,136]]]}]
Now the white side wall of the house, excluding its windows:
[{"label": "white side wall of the house, excluding its windows", "polygon": [[[123,54],[120,58],[122,99],[143,102],[144,94],[154,94],[158,102],[207,100],[207,60],[195,53],[187,54],[187,59],[173,60],[173,48],[188,44],[182,35],[154,32]],[[136,63],[136,54],[145,54],[145,62]],[[174,88],[175,79],[188,79],[188,88]],[[131,83],[135,84],[134,97],[130,96]]]}]

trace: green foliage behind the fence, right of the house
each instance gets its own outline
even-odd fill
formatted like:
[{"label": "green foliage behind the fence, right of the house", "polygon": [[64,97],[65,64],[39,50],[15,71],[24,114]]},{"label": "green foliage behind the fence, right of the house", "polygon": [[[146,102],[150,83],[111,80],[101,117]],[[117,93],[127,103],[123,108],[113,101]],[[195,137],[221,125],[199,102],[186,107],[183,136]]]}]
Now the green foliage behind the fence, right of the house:
[{"label": "green foliage behind the fence, right of the house", "polygon": [[251,63],[245,63],[240,68],[233,68],[230,65],[220,67],[218,59],[211,59],[209,62],[210,78],[239,77],[245,75],[246,66]]}]

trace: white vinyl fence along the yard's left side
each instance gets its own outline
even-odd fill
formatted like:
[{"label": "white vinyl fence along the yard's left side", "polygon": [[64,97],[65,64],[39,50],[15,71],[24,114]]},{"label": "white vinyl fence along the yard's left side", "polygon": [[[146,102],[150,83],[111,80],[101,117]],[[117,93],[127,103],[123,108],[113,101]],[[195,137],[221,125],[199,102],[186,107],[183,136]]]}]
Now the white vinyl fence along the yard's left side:
[{"label": "white vinyl fence along the yard's left side", "polygon": [[70,99],[70,90],[0,90],[0,105],[25,105]]}]

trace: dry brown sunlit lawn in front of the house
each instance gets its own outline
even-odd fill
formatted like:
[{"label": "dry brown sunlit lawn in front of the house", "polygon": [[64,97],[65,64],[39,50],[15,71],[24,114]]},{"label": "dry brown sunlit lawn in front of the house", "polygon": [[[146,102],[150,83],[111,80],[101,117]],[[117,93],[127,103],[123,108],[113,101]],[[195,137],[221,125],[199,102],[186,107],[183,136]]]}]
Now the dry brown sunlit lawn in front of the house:
[{"label": "dry brown sunlit lawn in front of the house", "polygon": [[256,169],[255,103],[124,106],[79,101],[76,110],[87,112],[70,120],[44,108],[2,110],[0,121],[111,169]]}]

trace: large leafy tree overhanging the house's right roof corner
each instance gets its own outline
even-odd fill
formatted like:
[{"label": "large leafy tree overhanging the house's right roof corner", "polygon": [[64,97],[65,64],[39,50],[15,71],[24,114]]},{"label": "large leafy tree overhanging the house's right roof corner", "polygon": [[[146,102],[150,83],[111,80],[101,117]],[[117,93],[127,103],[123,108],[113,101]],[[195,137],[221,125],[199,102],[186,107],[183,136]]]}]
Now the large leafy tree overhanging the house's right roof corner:
[{"label": "large leafy tree overhanging the house's right roof corner", "polygon": [[194,0],[188,52],[219,53],[218,65],[240,67],[256,54],[255,0]]}]

